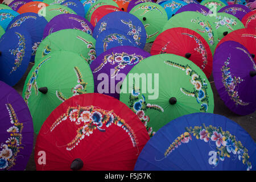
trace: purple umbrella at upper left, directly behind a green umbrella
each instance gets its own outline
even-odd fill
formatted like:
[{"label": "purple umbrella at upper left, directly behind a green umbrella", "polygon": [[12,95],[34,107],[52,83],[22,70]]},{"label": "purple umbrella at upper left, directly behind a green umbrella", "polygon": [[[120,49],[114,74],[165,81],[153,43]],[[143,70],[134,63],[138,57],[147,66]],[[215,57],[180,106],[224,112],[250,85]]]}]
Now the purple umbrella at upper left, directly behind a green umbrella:
[{"label": "purple umbrella at upper left, directly behind a green umbrella", "polygon": [[44,28],[43,39],[53,32],[63,29],[77,29],[86,32],[89,35],[93,34],[94,27],[88,20],[75,14],[60,14],[52,18]]}]

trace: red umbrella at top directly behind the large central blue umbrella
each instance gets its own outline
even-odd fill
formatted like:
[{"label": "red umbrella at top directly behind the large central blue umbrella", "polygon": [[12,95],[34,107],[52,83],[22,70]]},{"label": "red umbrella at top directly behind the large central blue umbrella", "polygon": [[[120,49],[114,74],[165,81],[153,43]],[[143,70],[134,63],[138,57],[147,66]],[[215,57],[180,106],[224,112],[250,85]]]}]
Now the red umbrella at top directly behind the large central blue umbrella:
[{"label": "red umbrella at top directly behind the large central blue umbrella", "polygon": [[105,15],[108,15],[109,13],[116,11],[121,11],[121,9],[112,5],[100,6],[95,11],[93,11],[92,16],[90,17],[90,23],[92,23],[92,25],[95,27],[101,18],[103,18]]}]

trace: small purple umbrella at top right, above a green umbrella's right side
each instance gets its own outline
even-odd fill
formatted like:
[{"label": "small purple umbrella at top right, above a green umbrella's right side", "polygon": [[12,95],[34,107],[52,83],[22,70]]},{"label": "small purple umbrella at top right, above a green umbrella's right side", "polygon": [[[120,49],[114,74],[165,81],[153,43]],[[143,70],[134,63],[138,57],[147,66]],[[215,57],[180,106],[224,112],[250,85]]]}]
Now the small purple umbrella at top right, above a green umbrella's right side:
[{"label": "small purple umbrella at top right, above a green umbrella's right side", "polygon": [[243,5],[228,5],[228,6],[222,7],[222,9],[218,11],[218,13],[228,13],[242,20],[243,16],[245,16],[250,11],[251,10],[248,7]]}]

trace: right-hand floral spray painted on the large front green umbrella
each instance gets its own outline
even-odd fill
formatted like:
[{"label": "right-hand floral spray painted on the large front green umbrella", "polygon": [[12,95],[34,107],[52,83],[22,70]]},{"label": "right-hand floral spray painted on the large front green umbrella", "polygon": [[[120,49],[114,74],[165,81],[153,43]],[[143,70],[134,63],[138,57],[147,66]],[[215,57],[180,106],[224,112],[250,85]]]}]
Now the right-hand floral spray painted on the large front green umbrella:
[{"label": "right-hand floral spray painted on the large front green umbrella", "polygon": [[191,84],[195,86],[192,91],[189,91],[185,88],[180,88],[180,91],[185,94],[186,96],[195,97],[198,104],[201,104],[200,111],[201,112],[207,112],[208,106],[209,106],[209,98],[208,98],[208,85],[205,81],[205,78],[201,78],[200,75],[197,74],[197,72],[193,71],[189,65],[181,65],[174,63],[172,61],[164,61],[167,65],[170,65],[171,67],[179,68],[182,71],[185,71],[186,75],[191,77]]}]

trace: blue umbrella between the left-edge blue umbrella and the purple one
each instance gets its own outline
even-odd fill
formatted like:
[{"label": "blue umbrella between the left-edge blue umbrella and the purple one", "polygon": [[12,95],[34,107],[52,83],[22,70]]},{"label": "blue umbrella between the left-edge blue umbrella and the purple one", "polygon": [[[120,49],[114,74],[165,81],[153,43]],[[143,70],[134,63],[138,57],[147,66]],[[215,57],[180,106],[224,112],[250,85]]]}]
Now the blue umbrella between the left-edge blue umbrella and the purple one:
[{"label": "blue umbrella between the left-edge blue umbrella and the purple one", "polygon": [[47,23],[47,20],[43,16],[39,16],[36,13],[23,13],[16,16],[6,29],[11,30],[14,27],[22,27],[30,33],[32,41],[31,62],[35,61],[36,49],[38,49],[43,39],[43,32]]}]

